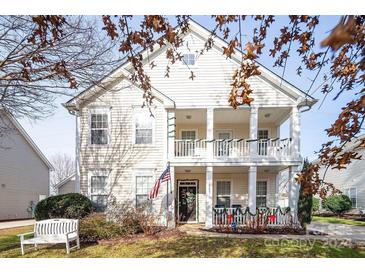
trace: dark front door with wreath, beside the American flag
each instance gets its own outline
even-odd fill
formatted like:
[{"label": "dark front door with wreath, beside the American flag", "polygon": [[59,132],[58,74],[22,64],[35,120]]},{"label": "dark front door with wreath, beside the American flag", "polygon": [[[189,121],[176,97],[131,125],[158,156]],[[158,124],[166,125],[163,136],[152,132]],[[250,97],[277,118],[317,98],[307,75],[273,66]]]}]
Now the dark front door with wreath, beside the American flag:
[{"label": "dark front door with wreath, beside the American flag", "polygon": [[178,188],[178,208],[180,223],[196,223],[197,222],[197,180],[179,181]]}]

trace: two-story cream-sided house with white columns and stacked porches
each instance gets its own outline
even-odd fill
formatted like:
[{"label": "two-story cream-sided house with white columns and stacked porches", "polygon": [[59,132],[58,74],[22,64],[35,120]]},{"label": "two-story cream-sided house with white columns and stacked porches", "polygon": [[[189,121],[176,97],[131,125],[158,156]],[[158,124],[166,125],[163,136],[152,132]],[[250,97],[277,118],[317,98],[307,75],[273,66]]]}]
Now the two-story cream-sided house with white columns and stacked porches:
[{"label": "two-story cream-sided house with white columns and stacked porches", "polygon": [[[296,209],[300,113],[316,100],[260,65],[262,74],[249,81],[251,107],[232,109],[230,84],[241,56],[237,50],[227,59],[222,54],[227,43],[219,38],[211,50],[197,54],[209,37],[191,21],[179,49],[184,59],[171,65],[168,78],[167,45],[156,45],[149,58],[142,53],[155,97],[153,116],[141,107],[143,92],[129,80],[129,62],[64,104],[76,116],[76,188],[95,205],[104,208],[113,195],[140,206],[169,162],[171,183],[163,183],[152,202],[161,222],[211,227],[214,207]],[[196,75],[193,81],[186,64]],[[280,126],[287,120],[290,132],[283,138]],[[283,170],[289,170],[284,186]]]}]

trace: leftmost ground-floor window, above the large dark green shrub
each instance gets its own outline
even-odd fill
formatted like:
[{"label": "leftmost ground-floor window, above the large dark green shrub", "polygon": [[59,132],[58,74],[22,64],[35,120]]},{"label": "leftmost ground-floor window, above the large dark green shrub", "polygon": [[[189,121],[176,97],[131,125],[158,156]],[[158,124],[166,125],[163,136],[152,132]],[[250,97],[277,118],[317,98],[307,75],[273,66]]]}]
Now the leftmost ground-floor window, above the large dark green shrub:
[{"label": "leftmost ground-floor window, above the large dark green shrub", "polygon": [[90,180],[91,202],[98,211],[104,211],[108,201],[108,176],[92,175]]}]

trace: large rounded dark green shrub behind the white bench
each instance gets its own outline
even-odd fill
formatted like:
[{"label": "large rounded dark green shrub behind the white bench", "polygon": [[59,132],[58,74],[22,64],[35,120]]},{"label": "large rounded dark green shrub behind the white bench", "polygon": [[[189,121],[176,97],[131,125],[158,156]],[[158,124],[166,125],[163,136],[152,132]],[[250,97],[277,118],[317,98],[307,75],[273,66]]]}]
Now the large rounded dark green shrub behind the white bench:
[{"label": "large rounded dark green shrub behind the white bench", "polygon": [[91,201],[78,193],[48,197],[40,201],[34,211],[37,221],[53,218],[81,219],[92,211]]}]

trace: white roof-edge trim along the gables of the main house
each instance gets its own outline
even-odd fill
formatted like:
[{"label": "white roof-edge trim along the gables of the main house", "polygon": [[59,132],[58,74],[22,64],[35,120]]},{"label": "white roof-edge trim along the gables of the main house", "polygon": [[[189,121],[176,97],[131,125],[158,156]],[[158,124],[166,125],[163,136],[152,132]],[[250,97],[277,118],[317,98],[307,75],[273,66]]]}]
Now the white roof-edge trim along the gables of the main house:
[{"label": "white roof-edge trim along the gables of the main house", "polygon": [[[188,35],[190,32],[194,32],[195,34],[200,35],[204,39],[208,39],[211,36],[211,32],[199,24],[198,22],[194,21],[193,19],[189,20],[189,31],[185,33],[185,35]],[[219,49],[223,52],[223,47],[227,47],[228,43],[220,38],[219,36],[215,36],[214,38],[214,47]],[[153,52],[156,51],[163,51],[164,48],[168,47],[168,45],[164,45],[162,47],[159,46],[159,44],[155,43],[153,45]],[[145,57],[148,53],[148,49],[144,49],[140,52],[143,57]],[[243,52],[236,48],[235,53],[231,56],[231,59],[233,61],[236,61],[238,64],[241,63],[242,60],[242,54]],[[156,54],[158,55],[158,54]],[[151,60],[151,56],[149,56],[149,59]],[[126,58],[127,59],[127,58]],[[145,61],[146,58],[143,58],[143,61]],[[303,90],[297,88],[293,84],[289,83],[264,65],[260,64],[259,62],[255,61],[260,67],[260,71],[262,72],[259,77],[264,78],[266,81],[271,82],[273,85],[277,86],[280,90],[283,92],[299,99],[298,105],[314,105],[318,100],[310,96],[308,93],[304,92]],[[119,67],[112,70],[108,75],[106,75],[104,78],[102,78],[97,84],[85,89],[84,91],[80,92],[78,95],[70,99],[68,102],[64,103],[63,106],[66,107],[69,110],[77,110],[79,106],[80,99],[81,101],[83,99],[90,98],[90,96],[95,95],[96,93],[107,90],[107,87],[109,85],[113,85],[115,81],[120,81],[121,79],[126,79],[129,82],[129,77],[131,75],[131,72],[129,71],[131,69],[131,64],[127,60],[124,63],[122,63]],[[131,82],[132,85],[136,86],[134,83]],[[137,87],[137,86],[136,86]],[[139,87],[137,87],[139,89]],[[163,94],[162,91],[157,90],[156,88],[152,87],[152,94],[157,98],[160,99],[165,105],[168,106],[175,106],[174,101],[167,97],[165,94]]]}]

